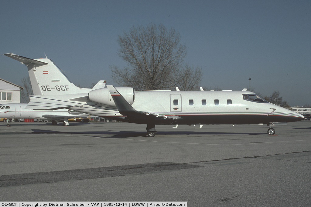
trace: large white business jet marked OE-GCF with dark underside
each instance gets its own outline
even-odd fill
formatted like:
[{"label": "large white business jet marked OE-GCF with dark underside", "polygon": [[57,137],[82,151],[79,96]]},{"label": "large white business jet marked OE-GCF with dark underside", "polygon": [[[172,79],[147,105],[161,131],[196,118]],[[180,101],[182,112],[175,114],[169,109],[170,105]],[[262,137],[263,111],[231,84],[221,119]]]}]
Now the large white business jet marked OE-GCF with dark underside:
[{"label": "large white business jet marked OE-GCF with dark underside", "polygon": [[242,91],[135,91],[129,87],[87,89],[75,86],[48,58],[4,54],[25,64],[33,91],[26,108],[71,109],[124,122],[146,124],[147,136],[156,124],[267,124],[303,120],[294,111],[276,106],[246,89]]}]

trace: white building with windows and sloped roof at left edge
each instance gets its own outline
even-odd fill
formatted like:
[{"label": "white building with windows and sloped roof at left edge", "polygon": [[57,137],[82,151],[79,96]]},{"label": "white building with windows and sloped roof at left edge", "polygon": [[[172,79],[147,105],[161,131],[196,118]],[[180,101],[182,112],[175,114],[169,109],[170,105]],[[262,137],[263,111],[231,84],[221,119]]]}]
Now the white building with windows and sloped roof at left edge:
[{"label": "white building with windows and sloped roof at left edge", "polygon": [[21,103],[22,89],[24,88],[0,78],[0,104]]}]

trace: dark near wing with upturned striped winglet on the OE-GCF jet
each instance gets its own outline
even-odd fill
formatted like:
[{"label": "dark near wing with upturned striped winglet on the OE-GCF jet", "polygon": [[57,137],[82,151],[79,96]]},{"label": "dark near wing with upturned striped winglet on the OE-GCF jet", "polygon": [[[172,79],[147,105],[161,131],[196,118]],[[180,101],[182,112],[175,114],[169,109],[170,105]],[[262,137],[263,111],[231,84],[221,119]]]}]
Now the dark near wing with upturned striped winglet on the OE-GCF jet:
[{"label": "dark near wing with upturned striped winglet on the OE-GCF jet", "polygon": [[179,118],[176,116],[165,116],[147,111],[137,111],[125,100],[114,86],[107,85],[107,88],[109,89],[110,95],[114,100],[119,113],[128,116],[127,119],[155,119],[161,123],[173,123]]}]

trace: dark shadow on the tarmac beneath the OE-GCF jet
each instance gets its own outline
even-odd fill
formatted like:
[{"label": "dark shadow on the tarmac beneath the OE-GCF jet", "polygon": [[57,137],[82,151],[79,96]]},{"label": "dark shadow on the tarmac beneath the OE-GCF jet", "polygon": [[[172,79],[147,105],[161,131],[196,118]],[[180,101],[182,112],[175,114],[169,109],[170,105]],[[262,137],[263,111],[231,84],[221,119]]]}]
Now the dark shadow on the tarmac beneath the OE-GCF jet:
[{"label": "dark shadow on the tarmac beneath the OE-GCF jet", "polygon": [[[146,137],[146,132],[131,131],[85,131],[85,132],[61,132],[53,130],[30,129],[32,134],[87,134],[87,135],[111,135],[111,137]],[[159,131],[156,136],[163,135],[266,135],[267,133],[236,133],[236,132],[194,132],[194,131]]]}]

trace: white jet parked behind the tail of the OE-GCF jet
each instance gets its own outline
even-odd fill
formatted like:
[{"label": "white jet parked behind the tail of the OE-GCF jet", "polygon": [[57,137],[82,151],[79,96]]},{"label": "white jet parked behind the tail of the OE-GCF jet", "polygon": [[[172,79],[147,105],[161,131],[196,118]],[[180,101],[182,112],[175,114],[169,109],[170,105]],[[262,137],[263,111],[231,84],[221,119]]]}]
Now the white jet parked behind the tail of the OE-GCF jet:
[{"label": "white jet parked behind the tail of the OE-GCF jet", "polygon": [[52,125],[57,125],[56,119],[64,119],[63,126],[68,125],[69,118],[83,117],[90,115],[70,109],[57,110],[33,110],[26,109],[27,104],[2,104],[0,105],[0,117],[7,119],[7,126],[10,126],[10,119],[43,119],[52,120]]}]

